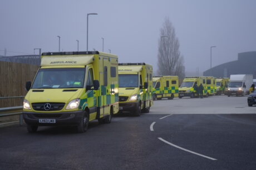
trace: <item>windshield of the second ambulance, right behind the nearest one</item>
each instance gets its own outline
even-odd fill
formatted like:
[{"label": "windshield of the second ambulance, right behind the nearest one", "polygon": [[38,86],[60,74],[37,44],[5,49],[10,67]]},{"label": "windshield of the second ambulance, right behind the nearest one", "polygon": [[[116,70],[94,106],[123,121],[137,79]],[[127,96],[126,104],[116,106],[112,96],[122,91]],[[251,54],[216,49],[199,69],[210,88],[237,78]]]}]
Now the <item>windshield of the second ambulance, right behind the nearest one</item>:
[{"label": "windshield of the second ambulance, right behind the nearest one", "polygon": [[139,87],[137,74],[119,74],[119,87]]}]

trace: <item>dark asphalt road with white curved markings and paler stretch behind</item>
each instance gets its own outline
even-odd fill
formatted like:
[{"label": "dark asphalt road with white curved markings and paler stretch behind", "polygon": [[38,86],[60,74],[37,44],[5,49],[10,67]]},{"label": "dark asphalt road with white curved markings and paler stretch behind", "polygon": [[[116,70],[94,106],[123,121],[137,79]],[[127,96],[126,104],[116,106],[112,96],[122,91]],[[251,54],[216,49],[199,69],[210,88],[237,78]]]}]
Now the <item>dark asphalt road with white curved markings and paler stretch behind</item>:
[{"label": "dark asphalt road with white curved markings and paler stretch behind", "polygon": [[256,169],[247,97],[155,101],[150,114],[70,127],[0,128],[0,169]]}]

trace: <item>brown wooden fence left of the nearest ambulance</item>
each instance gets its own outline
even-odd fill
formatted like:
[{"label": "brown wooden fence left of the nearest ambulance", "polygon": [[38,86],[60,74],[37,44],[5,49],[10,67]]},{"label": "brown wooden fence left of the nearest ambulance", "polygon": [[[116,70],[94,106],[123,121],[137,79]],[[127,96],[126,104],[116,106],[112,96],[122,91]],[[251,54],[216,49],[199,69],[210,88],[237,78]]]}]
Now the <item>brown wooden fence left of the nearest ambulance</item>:
[{"label": "brown wooden fence left of the nearest ambulance", "polygon": [[37,69],[37,65],[0,61],[0,108],[22,105],[26,81],[33,80]]}]

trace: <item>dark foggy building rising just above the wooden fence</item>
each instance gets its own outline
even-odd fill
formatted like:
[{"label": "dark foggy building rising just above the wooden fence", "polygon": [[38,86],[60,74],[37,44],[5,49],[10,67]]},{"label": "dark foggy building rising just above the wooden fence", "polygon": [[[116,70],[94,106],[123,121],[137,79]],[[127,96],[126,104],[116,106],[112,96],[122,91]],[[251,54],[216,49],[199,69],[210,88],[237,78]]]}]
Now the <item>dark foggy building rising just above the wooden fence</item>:
[{"label": "dark foggy building rising just above the wooden fence", "polygon": [[40,55],[0,56],[0,61],[40,65],[41,58],[40,58]]}]

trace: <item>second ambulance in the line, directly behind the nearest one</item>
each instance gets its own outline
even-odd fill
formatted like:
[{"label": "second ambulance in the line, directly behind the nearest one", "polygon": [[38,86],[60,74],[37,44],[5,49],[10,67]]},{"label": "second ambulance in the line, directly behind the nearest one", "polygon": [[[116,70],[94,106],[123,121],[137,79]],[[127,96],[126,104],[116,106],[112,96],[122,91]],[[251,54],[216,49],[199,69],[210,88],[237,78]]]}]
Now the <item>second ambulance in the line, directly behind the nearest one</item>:
[{"label": "second ambulance in the line, directly behind the nearest one", "polygon": [[152,100],[152,66],[145,63],[119,63],[119,110],[135,116],[148,113]]}]

